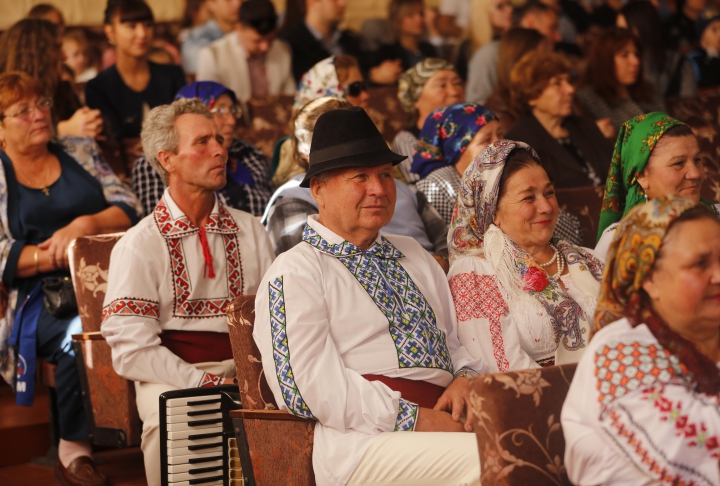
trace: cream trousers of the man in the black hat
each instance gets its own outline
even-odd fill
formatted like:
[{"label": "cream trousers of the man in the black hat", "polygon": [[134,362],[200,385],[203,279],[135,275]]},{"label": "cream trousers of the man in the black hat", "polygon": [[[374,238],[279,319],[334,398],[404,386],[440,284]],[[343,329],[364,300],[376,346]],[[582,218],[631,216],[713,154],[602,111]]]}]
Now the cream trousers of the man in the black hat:
[{"label": "cream trousers of the man in the black hat", "polygon": [[473,433],[393,432],[363,455],[347,486],[479,486]]}]

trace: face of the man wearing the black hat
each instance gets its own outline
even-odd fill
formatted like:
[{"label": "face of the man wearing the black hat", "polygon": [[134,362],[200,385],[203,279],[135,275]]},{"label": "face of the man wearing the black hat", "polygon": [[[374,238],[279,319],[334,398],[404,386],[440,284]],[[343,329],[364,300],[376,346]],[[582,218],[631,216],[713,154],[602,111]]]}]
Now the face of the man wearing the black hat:
[{"label": "face of the man wearing the black hat", "polygon": [[321,222],[346,239],[376,234],[395,211],[395,179],[390,163],[336,169],[325,181],[313,177],[310,188]]}]

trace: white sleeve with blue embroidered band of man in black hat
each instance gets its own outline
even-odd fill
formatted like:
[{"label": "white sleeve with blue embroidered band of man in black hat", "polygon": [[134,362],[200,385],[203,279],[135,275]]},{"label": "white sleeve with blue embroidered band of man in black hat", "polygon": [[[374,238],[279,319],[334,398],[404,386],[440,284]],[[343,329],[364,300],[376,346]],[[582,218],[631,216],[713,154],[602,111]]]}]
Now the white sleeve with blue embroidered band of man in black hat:
[{"label": "white sleeve with blue embroidered band of man in black hat", "polygon": [[317,258],[285,253],[278,263],[258,291],[253,337],[279,407],[340,432],[414,429],[416,404],[345,367],[330,334]]}]

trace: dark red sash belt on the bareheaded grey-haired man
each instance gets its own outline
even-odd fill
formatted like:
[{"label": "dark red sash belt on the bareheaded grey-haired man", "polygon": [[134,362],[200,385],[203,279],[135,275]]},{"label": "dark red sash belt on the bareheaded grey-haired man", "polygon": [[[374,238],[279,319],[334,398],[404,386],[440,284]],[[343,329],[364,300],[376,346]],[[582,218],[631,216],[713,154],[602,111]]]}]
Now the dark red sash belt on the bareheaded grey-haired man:
[{"label": "dark red sash belt on the bareheaded grey-haired man", "polygon": [[233,358],[230,335],[226,332],[163,331],[160,343],[190,364]]}]

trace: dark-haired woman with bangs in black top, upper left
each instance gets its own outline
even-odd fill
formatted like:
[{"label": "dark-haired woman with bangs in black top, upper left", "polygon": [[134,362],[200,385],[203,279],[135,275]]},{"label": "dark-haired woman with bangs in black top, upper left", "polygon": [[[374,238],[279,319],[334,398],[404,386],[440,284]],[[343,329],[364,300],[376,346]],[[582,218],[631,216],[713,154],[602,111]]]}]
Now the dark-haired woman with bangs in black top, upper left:
[{"label": "dark-haired woman with bangs in black top, upper left", "polygon": [[148,60],[154,20],[143,0],[108,0],[105,35],[117,62],[85,86],[85,101],[99,109],[121,144],[128,168],[142,154],[140,130],[151,108],[171,103],[185,85],[182,68]]}]

